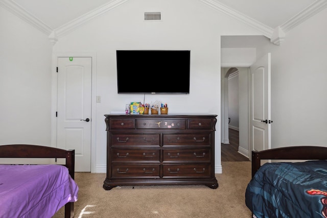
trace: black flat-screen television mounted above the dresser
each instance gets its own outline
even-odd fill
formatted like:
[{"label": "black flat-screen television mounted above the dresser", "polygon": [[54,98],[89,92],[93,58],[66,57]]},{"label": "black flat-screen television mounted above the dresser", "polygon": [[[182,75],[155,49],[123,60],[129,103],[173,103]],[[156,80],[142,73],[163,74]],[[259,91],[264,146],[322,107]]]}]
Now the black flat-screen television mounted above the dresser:
[{"label": "black flat-screen television mounted above the dresser", "polygon": [[189,50],[117,50],[118,93],[189,94]]}]

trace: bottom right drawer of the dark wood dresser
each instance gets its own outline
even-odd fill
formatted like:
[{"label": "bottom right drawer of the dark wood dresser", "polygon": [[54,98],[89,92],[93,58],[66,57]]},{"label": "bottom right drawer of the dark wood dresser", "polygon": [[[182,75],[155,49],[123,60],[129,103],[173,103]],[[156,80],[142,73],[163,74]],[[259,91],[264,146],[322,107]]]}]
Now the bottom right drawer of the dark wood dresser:
[{"label": "bottom right drawer of the dark wood dresser", "polygon": [[164,177],[210,177],[210,164],[163,165]]}]

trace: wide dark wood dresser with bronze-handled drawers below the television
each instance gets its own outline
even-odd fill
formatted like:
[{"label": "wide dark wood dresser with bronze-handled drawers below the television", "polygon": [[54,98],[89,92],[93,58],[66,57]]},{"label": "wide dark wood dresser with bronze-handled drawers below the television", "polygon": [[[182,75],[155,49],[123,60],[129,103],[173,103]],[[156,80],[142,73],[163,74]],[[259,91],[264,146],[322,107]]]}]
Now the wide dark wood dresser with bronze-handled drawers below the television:
[{"label": "wide dark wood dresser with bronze-handled drawers below the television", "polygon": [[107,177],[118,185],[204,184],[217,188],[214,114],[105,114]]}]

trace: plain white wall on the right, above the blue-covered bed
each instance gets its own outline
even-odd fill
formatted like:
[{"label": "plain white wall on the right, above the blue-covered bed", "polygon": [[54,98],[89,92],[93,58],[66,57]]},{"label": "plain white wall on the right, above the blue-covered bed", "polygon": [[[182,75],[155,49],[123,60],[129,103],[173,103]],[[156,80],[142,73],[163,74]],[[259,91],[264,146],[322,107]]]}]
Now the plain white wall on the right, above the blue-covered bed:
[{"label": "plain white wall on the right, above the blue-covered bed", "polygon": [[271,147],[327,146],[327,9],[287,32],[271,52]]}]

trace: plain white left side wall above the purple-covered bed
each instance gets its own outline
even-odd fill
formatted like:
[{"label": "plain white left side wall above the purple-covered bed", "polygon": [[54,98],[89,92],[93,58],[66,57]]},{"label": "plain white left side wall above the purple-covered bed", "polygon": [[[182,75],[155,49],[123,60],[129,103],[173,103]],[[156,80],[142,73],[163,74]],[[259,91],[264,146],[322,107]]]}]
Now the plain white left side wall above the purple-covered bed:
[{"label": "plain white left side wall above the purple-covered bed", "polygon": [[0,7],[0,144],[50,146],[52,44]]}]

